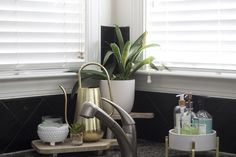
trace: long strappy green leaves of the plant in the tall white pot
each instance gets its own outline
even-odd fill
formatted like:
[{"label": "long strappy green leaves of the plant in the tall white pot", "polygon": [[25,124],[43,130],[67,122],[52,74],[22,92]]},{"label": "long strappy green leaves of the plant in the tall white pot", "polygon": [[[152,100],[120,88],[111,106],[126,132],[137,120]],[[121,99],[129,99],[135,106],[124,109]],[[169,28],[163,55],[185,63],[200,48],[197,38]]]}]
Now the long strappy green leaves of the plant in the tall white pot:
[{"label": "long strappy green leaves of the plant in the tall white pot", "polygon": [[[115,26],[115,32],[118,39],[117,43],[110,43],[110,50],[104,56],[103,66],[106,67],[111,79],[113,80],[129,80],[133,79],[133,76],[137,70],[144,65],[149,64],[151,68],[158,70],[158,68],[152,63],[154,57],[147,58],[142,57],[143,51],[150,47],[159,46],[158,44],[146,44],[147,32],[144,32],[134,42],[124,42],[121,30],[119,26]],[[108,64],[108,59],[113,58],[114,62]],[[106,75],[101,71],[95,70],[83,70],[84,77],[106,79]]]}]

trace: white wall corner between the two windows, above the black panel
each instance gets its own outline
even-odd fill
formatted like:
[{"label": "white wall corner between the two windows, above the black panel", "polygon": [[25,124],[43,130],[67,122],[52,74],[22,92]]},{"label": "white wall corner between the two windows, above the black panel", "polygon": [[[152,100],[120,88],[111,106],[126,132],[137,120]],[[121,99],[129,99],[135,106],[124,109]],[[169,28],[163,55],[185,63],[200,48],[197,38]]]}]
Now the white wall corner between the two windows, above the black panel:
[{"label": "white wall corner between the two windows, above the black panel", "polygon": [[101,25],[130,26],[131,40],[143,32],[143,0],[101,0]]}]

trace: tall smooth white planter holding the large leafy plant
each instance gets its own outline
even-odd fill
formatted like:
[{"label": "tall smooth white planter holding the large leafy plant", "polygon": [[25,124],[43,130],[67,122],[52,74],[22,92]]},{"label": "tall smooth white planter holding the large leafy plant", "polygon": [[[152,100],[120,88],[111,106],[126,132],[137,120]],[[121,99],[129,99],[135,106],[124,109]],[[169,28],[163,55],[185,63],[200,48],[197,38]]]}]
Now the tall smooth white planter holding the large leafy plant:
[{"label": "tall smooth white planter holding the large leafy plant", "polygon": [[[109,88],[107,80],[100,81],[101,95],[110,100]],[[134,104],[135,80],[111,80],[111,92],[113,102],[130,113]],[[111,105],[103,102],[103,109],[110,114],[112,112]],[[114,114],[118,114],[116,111]]]}]

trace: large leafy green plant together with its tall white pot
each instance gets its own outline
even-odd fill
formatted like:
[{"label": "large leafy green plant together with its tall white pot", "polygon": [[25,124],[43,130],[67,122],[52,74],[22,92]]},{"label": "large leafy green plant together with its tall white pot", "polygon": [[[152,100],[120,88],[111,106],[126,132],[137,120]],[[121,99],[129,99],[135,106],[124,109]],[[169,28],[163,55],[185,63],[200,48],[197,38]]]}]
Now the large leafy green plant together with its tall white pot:
[{"label": "large leafy green plant together with its tall white pot", "polygon": [[[121,107],[127,112],[130,112],[133,106],[135,93],[134,74],[144,65],[149,65],[151,68],[158,70],[153,64],[154,57],[150,56],[143,58],[143,51],[147,48],[159,45],[146,44],[147,32],[141,34],[134,43],[131,43],[129,40],[124,42],[121,30],[117,25],[115,25],[115,32],[118,44],[110,43],[111,50],[107,51],[105,54],[102,64],[109,72],[112,80],[111,91],[113,93],[113,101],[118,105],[123,105]],[[109,59],[113,59],[111,64],[108,64]],[[107,82],[102,81],[106,80],[106,75],[102,70],[83,70],[81,73],[82,78],[100,79],[101,94],[103,97],[109,98]],[[105,110],[110,113],[110,105],[105,104],[104,106]]]}]

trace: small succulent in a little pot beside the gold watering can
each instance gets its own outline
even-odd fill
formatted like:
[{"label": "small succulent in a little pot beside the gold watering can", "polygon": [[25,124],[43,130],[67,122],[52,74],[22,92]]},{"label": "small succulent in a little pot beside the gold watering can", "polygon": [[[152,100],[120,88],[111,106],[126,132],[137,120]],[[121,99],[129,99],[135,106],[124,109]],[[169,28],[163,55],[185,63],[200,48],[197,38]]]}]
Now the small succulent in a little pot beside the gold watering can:
[{"label": "small succulent in a little pot beside the gold watering can", "polygon": [[73,145],[83,144],[84,125],[81,123],[73,123],[70,126],[70,138]]}]

